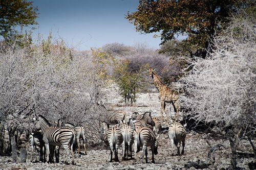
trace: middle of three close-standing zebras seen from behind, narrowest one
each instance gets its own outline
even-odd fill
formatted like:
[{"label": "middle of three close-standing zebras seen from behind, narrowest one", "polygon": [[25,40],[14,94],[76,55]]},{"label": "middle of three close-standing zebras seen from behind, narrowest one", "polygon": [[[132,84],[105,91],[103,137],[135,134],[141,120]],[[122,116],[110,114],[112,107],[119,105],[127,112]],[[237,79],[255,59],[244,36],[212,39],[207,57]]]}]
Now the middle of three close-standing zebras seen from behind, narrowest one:
[{"label": "middle of three close-standing zebras seen from behind, narrowest one", "polygon": [[123,135],[123,142],[122,142],[122,149],[123,149],[123,154],[122,154],[122,160],[126,160],[126,155],[128,158],[129,155],[129,150],[131,153],[131,159],[133,158],[132,156],[132,144],[133,144],[133,131],[134,129],[129,126],[128,124],[122,124],[120,126],[121,133]]}]

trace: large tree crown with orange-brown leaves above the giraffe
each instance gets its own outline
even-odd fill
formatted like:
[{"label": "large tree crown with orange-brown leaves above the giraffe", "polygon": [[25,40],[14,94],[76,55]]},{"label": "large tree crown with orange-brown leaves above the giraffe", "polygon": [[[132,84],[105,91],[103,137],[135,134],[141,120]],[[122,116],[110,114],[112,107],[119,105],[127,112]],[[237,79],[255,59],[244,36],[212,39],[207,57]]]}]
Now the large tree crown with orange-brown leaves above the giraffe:
[{"label": "large tree crown with orange-brown leaves above the giraffe", "polygon": [[208,47],[219,21],[228,22],[231,12],[247,7],[245,0],[141,0],[137,11],[128,12],[126,19],[142,33],[161,32],[161,44],[187,35],[186,41]]}]

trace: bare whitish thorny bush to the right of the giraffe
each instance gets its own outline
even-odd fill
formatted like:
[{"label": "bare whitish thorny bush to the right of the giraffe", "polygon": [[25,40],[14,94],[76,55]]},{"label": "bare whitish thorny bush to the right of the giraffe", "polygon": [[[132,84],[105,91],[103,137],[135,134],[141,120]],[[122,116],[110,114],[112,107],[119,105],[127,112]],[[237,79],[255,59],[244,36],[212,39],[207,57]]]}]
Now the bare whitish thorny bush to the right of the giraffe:
[{"label": "bare whitish thorny bush to the right of the giraffe", "polygon": [[255,28],[255,18],[233,17],[215,37],[208,57],[197,58],[181,80],[186,91],[181,104],[189,108],[184,114],[231,130],[228,134],[234,142],[253,137],[256,130]]}]

